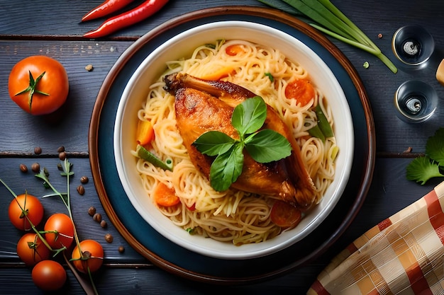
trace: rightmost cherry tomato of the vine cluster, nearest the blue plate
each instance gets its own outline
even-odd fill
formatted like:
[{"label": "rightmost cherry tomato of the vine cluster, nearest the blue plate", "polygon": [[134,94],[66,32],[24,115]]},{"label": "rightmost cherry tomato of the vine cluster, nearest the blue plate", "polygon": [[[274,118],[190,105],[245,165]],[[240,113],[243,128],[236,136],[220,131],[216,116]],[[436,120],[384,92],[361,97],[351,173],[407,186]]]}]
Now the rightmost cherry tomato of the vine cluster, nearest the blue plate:
[{"label": "rightmost cherry tomato of the vine cluster, nearest the blue plate", "polygon": [[82,255],[77,245],[72,250],[72,263],[74,267],[79,272],[84,273],[88,273],[88,268],[90,272],[99,270],[104,262],[104,248],[94,240],[84,240],[80,242],[80,249],[82,250]]}]

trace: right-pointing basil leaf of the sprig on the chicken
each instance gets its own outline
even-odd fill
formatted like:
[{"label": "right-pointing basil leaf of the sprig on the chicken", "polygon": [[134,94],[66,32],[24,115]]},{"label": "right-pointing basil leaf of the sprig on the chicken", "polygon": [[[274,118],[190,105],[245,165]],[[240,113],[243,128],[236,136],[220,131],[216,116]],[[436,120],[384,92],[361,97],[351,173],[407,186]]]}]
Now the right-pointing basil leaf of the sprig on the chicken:
[{"label": "right-pointing basil leaf of the sprig on the chicken", "polygon": [[259,163],[279,161],[292,154],[287,138],[272,129],[263,129],[245,139],[245,149]]}]

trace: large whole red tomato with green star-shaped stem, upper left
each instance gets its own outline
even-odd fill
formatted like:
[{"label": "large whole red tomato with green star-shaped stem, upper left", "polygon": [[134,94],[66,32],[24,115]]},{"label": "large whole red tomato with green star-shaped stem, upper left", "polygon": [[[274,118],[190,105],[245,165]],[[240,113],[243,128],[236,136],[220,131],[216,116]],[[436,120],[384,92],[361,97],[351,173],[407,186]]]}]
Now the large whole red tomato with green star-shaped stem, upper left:
[{"label": "large whole red tomato with green star-shaped stem, upper left", "polygon": [[26,57],[9,74],[9,96],[32,115],[54,112],[65,103],[70,84],[65,68],[44,55]]}]

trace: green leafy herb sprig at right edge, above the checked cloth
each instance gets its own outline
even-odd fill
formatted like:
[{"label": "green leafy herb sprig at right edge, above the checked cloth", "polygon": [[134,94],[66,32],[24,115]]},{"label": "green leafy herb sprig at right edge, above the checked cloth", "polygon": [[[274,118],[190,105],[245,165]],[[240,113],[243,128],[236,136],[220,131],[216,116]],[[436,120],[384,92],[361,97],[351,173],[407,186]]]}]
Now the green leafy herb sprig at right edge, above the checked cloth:
[{"label": "green leafy herb sprig at right edge, above the checked cloth", "polygon": [[438,129],[426,143],[426,154],[414,158],[406,168],[408,180],[421,185],[435,177],[444,177],[444,128]]}]

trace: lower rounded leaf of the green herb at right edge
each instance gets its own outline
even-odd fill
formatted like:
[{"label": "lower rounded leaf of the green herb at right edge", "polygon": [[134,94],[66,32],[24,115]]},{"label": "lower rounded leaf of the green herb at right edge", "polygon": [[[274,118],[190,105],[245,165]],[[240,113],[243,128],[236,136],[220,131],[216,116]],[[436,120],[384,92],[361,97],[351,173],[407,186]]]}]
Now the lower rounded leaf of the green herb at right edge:
[{"label": "lower rounded leaf of the green herb at right edge", "polygon": [[438,163],[428,156],[414,158],[406,168],[407,180],[415,180],[421,185],[425,185],[431,178],[440,176],[444,175],[440,173]]}]

